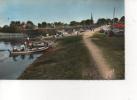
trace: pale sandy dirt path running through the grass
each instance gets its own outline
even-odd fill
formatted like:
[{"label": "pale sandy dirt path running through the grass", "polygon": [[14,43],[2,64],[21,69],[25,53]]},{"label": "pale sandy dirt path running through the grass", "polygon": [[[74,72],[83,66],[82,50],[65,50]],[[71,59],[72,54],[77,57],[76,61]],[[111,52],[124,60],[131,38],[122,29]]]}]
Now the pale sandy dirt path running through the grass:
[{"label": "pale sandy dirt path running through the grass", "polygon": [[99,31],[99,28],[93,31],[87,31],[83,34],[83,40],[88,48],[91,57],[94,59],[95,64],[99,70],[103,79],[115,79],[114,69],[111,69],[110,65],[104,59],[100,49],[91,41],[91,37],[95,32]]}]

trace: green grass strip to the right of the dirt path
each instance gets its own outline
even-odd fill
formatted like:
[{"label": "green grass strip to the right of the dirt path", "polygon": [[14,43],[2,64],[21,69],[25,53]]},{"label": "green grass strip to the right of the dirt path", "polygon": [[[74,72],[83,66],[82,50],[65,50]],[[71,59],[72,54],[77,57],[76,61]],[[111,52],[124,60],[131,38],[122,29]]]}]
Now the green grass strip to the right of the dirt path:
[{"label": "green grass strip to the right of the dirt path", "polygon": [[115,69],[116,79],[124,79],[124,37],[107,37],[104,33],[97,33],[92,37],[92,41],[103,51],[104,57]]}]

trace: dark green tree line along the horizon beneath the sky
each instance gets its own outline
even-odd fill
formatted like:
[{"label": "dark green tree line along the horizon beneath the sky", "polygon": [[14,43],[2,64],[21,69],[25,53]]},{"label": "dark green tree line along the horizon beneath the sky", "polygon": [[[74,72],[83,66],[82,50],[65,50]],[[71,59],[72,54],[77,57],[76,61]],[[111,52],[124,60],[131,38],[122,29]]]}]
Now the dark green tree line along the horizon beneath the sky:
[{"label": "dark green tree line along the horizon beneath the sky", "polygon": [[125,17],[122,16],[120,19],[105,19],[99,18],[96,23],[92,19],[82,20],[81,22],[71,21],[69,24],[63,22],[54,22],[54,23],[47,23],[42,22],[35,25],[32,21],[27,22],[20,22],[20,21],[11,21],[10,25],[4,25],[0,27],[0,32],[10,32],[10,33],[20,33],[23,29],[35,29],[35,28],[55,28],[55,27],[66,27],[66,26],[86,26],[86,25],[106,25],[106,24],[113,24],[114,23],[125,23]]}]

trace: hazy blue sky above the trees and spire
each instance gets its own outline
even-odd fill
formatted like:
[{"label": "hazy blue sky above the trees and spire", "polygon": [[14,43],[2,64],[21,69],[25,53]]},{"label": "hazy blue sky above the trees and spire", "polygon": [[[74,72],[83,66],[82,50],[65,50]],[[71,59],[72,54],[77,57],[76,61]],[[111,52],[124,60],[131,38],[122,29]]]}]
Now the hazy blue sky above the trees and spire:
[{"label": "hazy blue sky above the trees and spire", "polygon": [[10,21],[39,22],[81,21],[124,15],[124,0],[0,0],[0,26]]}]

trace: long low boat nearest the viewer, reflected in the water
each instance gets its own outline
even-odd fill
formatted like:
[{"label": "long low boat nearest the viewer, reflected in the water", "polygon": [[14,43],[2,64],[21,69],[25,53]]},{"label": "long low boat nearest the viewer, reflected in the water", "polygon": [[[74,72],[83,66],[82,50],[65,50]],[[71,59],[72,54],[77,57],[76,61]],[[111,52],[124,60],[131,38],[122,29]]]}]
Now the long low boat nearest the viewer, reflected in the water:
[{"label": "long low boat nearest the viewer, reflected in the water", "polygon": [[37,52],[42,52],[47,50],[49,47],[39,47],[39,48],[33,48],[33,49],[27,49],[24,51],[10,51],[10,55],[26,55],[26,54],[32,54]]}]

